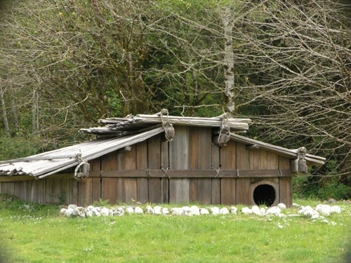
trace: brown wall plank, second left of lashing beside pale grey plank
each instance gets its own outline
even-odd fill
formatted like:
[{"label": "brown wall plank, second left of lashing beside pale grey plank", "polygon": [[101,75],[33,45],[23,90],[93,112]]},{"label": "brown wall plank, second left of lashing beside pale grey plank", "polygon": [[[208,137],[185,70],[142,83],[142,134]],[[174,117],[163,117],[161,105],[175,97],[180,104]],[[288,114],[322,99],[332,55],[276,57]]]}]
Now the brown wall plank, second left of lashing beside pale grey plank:
[{"label": "brown wall plank, second left of lashing beside pale grey plank", "polygon": [[[136,144],[136,168],[138,170],[147,169],[147,141]],[[149,201],[149,186],[147,178],[137,178],[137,201],[147,203]]]}]

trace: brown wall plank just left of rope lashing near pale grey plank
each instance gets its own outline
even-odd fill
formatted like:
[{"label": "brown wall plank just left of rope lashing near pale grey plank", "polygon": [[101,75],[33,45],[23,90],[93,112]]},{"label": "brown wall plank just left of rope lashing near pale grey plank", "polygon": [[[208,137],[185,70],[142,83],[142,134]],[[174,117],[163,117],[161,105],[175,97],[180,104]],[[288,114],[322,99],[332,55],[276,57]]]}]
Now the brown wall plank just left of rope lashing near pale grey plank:
[{"label": "brown wall plank just left of rope lashing near pale grey plank", "polygon": [[[150,169],[161,168],[161,135],[156,135],[147,140],[148,167]],[[149,202],[161,203],[161,179],[150,178]]]}]

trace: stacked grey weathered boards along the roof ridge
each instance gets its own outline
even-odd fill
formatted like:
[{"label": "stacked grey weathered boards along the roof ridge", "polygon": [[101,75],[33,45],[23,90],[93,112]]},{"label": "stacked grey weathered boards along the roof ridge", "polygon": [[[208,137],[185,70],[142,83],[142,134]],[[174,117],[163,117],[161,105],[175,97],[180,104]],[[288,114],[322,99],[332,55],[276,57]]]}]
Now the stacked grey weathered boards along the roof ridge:
[{"label": "stacked grey weathered boards along the roof ridge", "polygon": [[[185,126],[203,126],[203,127],[222,127],[223,116],[214,118],[184,117],[184,116],[164,116],[164,121],[171,124]],[[135,131],[145,130],[152,126],[161,125],[162,118],[160,114],[147,115],[138,114],[129,118],[108,118],[101,119],[100,123],[106,124],[105,127],[96,127],[79,130],[81,133],[106,134],[106,135],[127,135]],[[251,119],[227,119],[225,125],[230,128],[232,133],[244,133],[249,129]]]}]

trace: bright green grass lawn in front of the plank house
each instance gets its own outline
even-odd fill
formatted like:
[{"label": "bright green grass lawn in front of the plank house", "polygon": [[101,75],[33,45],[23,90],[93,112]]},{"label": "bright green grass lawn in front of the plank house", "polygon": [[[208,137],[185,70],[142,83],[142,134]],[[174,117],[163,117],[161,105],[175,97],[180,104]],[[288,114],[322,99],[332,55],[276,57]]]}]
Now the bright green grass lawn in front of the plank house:
[{"label": "bright green grass lawn in front of the plank house", "polygon": [[5,262],[348,262],[351,204],[338,205],[333,226],[241,214],[67,219],[58,205],[3,201],[1,254]]}]

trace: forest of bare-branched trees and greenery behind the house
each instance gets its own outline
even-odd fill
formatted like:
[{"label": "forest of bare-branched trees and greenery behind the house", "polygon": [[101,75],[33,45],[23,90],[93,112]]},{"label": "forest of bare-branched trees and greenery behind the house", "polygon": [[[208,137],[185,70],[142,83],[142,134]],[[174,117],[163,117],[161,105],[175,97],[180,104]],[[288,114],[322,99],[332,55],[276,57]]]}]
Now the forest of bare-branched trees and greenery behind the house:
[{"label": "forest of bare-branched trees and greenery behind the house", "polygon": [[0,160],[89,140],[102,117],[229,112],[326,157],[296,195],[351,197],[347,1],[0,3]]}]

